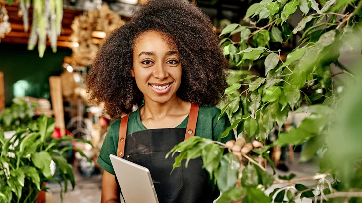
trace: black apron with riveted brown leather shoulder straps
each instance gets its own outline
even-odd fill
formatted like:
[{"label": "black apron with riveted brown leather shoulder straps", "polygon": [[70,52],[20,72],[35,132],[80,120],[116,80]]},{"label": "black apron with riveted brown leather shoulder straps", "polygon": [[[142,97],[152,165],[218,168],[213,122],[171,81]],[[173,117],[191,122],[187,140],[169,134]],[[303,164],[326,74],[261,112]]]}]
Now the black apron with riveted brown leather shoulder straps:
[{"label": "black apron with riveted brown leather shoulder straps", "polygon": [[117,156],[148,168],[160,203],[214,201],[215,194],[201,157],[190,160],[187,168],[185,161],[182,161],[182,165],[175,168],[171,175],[178,154],[165,159],[167,152],[175,145],[194,136],[198,109],[199,106],[191,105],[187,128],[150,129],[126,136],[129,115],[121,120]]}]

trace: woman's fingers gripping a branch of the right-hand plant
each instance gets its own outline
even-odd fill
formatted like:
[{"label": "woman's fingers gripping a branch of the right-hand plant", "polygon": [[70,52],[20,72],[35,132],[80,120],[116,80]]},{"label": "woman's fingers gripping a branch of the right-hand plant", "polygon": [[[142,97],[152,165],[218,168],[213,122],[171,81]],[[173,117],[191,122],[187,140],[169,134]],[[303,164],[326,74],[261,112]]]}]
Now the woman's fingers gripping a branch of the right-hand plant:
[{"label": "woman's fingers gripping a branch of the right-hand plant", "polygon": [[239,161],[242,160],[242,154],[250,153],[254,148],[263,147],[263,143],[259,141],[253,141],[252,143],[246,143],[244,138],[238,140],[230,140],[225,143],[226,147],[230,148],[231,151],[238,157]]}]

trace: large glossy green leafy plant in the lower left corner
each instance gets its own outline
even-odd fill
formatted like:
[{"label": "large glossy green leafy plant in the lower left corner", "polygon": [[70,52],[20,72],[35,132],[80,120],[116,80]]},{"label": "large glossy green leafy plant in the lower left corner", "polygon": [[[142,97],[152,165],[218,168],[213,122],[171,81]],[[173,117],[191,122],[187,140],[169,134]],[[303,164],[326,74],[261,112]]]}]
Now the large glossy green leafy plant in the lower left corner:
[{"label": "large glossy green leafy plant in the lower left corner", "polygon": [[[68,189],[68,180],[73,189],[75,185],[72,166],[64,158],[68,150],[79,149],[65,147],[58,149],[58,144],[73,141],[70,136],[61,139],[52,138],[54,119],[45,115],[27,128],[18,128],[8,139],[0,129],[0,202],[1,203],[34,203],[40,190],[47,190],[42,183],[56,181],[60,184],[61,195],[64,180],[64,192]],[[76,140],[79,142],[89,141]],[[88,159],[88,161],[90,161]],[[57,167],[55,167],[57,166]]]}]

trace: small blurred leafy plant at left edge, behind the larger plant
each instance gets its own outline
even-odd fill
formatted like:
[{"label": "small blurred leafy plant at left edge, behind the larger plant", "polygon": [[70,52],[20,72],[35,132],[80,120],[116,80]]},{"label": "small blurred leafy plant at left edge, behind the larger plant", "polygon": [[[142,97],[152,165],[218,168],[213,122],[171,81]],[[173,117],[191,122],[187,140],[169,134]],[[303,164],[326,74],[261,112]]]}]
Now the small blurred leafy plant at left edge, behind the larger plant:
[{"label": "small blurred leafy plant at left edge, behind the larger plant", "polygon": [[35,102],[28,103],[23,98],[14,98],[11,107],[5,108],[0,115],[0,126],[4,131],[12,131],[17,128],[25,128],[34,123]]}]

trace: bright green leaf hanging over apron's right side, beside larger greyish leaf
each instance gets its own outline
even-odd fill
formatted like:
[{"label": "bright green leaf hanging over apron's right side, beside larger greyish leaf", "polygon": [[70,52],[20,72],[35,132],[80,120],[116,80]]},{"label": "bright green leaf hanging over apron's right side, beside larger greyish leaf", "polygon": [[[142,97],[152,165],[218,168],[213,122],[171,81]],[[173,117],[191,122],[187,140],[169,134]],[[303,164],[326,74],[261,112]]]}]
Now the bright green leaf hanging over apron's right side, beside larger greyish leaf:
[{"label": "bright green leaf hanging over apron's right side, beside larger greyish leaf", "polygon": [[[203,148],[202,162],[204,164],[205,169],[209,172],[210,176],[213,174],[215,170],[218,170],[222,156],[223,154],[220,150],[220,147],[214,143],[208,144]],[[210,177],[210,179],[212,179],[212,177]]]}]

